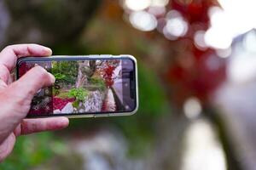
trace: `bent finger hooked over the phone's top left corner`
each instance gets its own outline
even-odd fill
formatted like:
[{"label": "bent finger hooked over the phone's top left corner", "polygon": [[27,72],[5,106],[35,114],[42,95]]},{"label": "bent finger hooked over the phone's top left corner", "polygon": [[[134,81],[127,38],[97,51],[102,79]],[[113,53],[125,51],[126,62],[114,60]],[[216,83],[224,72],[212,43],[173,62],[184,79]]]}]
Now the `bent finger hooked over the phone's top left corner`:
[{"label": "bent finger hooked over the phone's top left corner", "polygon": [[3,48],[0,53],[0,78],[7,82],[9,72],[11,72],[16,65],[17,59],[26,56],[49,56],[52,54],[50,48],[46,48],[37,44],[19,44],[11,45]]}]

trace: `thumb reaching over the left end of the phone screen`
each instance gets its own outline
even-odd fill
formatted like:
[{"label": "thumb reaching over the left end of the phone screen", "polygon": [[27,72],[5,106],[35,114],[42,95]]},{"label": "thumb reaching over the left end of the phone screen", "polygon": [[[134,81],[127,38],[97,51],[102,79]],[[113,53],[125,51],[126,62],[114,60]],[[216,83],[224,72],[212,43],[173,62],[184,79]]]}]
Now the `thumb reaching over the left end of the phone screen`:
[{"label": "thumb reaching over the left end of the phone screen", "polygon": [[10,84],[9,92],[20,97],[18,99],[32,99],[39,89],[49,87],[54,82],[55,77],[38,65],[27,71],[19,80]]}]

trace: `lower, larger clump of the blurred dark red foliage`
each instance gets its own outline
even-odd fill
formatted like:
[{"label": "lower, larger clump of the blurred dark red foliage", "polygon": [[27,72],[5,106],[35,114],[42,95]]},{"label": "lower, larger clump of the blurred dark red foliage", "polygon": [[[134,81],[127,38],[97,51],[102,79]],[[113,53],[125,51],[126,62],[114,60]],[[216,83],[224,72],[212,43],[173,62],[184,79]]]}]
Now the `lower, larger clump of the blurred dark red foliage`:
[{"label": "lower, larger clump of the blurred dark red foliage", "polygon": [[166,71],[165,80],[172,89],[172,100],[177,106],[190,96],[207,103],[208,98],[225,80],[225,60],[220,59],[212,49],[201,51],[193,48],[193,65],[183,67],[172,63]]}]

